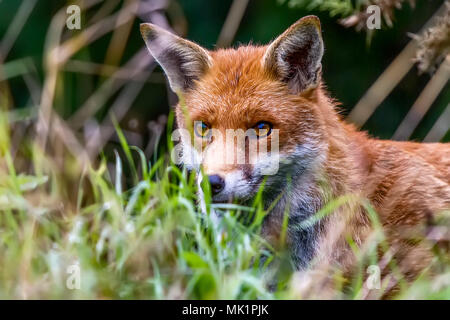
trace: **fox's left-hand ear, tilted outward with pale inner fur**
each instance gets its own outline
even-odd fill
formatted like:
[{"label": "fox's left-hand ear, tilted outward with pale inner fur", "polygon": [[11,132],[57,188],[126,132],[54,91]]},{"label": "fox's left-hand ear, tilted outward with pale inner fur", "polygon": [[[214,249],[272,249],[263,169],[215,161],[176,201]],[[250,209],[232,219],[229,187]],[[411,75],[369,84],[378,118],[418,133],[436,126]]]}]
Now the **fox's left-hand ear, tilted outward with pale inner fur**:
[{"label": "fox's left-hand ear, tilted outward with pale inner fur", "polygon": [[174,92],[192,88],[211,66],[211,57],[199,45],[182,39],[151,23],[140,26],[148,50],[161,65]]}]

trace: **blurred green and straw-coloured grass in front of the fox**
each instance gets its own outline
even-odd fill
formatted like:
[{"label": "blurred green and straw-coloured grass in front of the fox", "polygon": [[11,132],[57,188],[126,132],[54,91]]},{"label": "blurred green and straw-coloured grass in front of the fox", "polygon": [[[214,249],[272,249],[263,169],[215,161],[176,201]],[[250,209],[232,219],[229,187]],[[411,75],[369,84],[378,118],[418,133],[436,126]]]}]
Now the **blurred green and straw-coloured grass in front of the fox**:
[{"label": "blurred green and straw-coloured grass in front of the fox", "polygon": [[[194,176],[167,153],[148,161],[120,129],[122,150],[111,170],[105,157],[95,166],[65,158],[61,168],[30,139],[18,151],[31,163],[21,172],[12,162],[7,116],[1,112],[1,299],[301,298],[286,252],[259,236],[265,212],[258,202],[214,205],[206,196],[208,212],[199,212]],[[372,251],[382,242],[378,233]],[[337,270],[334,298],[364,298],[363,257],[353,247],[361,272],[342,290]],[[445,260],[437,254],[438,261]],[[398,297],[449,299],[448,261],[440,266],[439,276],[425,272]]]}]

